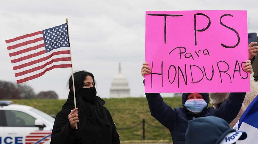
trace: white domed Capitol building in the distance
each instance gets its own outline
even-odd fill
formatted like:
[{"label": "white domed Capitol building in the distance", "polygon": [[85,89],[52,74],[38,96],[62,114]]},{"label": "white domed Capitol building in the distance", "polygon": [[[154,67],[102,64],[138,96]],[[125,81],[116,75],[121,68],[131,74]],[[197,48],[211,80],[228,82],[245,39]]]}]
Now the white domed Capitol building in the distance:
[{"label": "white domed Capitol building in the distance", "polygon": [[130,95],[130,88],[125,75],[121,71],[119,63],[118,73],[114,76],[110,88],[110,98],[128,98]]}]

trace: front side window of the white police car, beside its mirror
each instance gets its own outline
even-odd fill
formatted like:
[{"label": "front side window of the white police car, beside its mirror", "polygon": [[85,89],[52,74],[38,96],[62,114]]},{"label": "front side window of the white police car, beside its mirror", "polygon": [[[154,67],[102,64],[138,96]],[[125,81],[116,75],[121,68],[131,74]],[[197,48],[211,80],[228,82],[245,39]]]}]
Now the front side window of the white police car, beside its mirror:
[{"label": "front side window of the white police car, beside its mirror", "polygon": [[35,127],[35,118],[15,110],[5,111],[7,127]]}]

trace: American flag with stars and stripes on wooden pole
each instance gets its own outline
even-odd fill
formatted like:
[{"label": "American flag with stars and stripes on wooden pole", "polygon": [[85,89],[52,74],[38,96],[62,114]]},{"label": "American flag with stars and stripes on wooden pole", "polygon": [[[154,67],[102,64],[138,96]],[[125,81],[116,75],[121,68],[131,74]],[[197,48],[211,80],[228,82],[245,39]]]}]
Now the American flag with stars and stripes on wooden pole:
[{"label": "American flag with stars and stripes on wooden pole", "polygon": [[5,41],[17,83],[72,67],[67,23]]}]

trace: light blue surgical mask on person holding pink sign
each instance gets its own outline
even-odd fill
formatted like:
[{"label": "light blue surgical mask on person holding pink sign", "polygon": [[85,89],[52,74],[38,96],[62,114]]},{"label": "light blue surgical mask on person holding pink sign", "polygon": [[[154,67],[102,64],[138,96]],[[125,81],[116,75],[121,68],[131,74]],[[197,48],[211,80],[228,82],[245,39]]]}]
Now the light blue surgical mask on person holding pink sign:
[{"label": "light blue surgical mask on person holding pink sign", "polygon": [[187,108],[187,110],[190,110],[194,113],[201,112],[205,107],[207,107],[206,101],[204,99],[191,99],[187,100],[184,103],[184,106]]}]

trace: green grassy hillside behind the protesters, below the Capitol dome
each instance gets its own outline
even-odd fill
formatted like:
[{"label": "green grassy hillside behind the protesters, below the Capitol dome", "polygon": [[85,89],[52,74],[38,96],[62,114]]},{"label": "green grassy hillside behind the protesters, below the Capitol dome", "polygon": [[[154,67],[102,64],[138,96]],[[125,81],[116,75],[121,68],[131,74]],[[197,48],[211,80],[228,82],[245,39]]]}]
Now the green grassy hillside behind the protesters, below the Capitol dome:
[{"label": "green grassy hillside behind the protesters, below the Capitol dome", "polygon": [[[164,101],[174,107],[182,107],[182,98],[163,98]],[[49,115],[56,115],[66,100],[32,99],[11,100],[13,104],[22,104],[34,107]],[[146,98],[121,98],[104,99],[104,106],[110,111],[121,142],[143,140],[143,119],[145,119],[145,141],[171,142],[172,138],[167,128],[161,125],[151,116]]]}]

